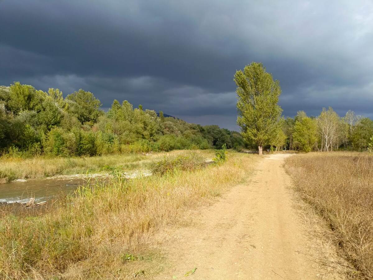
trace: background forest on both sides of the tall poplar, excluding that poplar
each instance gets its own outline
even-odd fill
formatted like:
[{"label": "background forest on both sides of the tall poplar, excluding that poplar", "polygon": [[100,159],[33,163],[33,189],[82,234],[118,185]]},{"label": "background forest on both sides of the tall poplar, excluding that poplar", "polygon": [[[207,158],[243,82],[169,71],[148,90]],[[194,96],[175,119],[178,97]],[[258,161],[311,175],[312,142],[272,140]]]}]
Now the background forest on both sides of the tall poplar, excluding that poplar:
[{"label": "background forest on both sides of the tall poplar, excluding that poplar", "polygon": [[[3,155],[92,156],[117,152],[182,149],[254,148],[236,131],[217,125],[201,126],[153,110],[134,108],[117,100],[109,111],[100,109],[93,93],[80,89],[63,98],[19,82],[0,87],[0,151]],[[332,151],[372,149],[373,121],[348,111],[345,116],[323,108],[319,116],[299,111],[279,120],[265,149]]]}]

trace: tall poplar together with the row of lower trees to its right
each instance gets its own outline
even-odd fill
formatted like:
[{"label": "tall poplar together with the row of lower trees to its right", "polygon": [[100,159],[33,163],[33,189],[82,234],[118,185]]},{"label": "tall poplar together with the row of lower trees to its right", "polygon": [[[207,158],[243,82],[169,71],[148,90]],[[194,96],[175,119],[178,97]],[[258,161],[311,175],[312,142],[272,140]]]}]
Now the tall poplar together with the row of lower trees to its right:
[{"label": "tall poplar together with the row of lower trees to its right", "polygon": [[263,147],[301,150],[333,151],[338,149],[372,151],[373,120],[348,111],[344,117],[329,107],[317,117],[299,111],[294,118],[284,119],[278,105],[281,89],[262,63],[253,62],[234,75],[238,96],[237,124],[245,141]]}]

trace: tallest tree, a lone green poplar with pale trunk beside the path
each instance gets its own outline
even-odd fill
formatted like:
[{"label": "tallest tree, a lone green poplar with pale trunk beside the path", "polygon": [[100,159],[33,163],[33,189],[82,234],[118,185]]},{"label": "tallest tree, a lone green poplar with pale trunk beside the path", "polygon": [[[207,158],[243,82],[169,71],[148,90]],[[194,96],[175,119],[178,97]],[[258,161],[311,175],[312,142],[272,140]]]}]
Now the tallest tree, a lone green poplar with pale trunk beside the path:
[{"label": "tallest tree, a lone green poplar with pale trunk beside the path", "polygon": [[263,145],[276,137],[280,125],[280,84],[257,62],[245,66],[244,71],[237,71],[234,81],[238,95],[237,124],[241,126],[243,138],[256,143],[259,154],[263,154]]}]

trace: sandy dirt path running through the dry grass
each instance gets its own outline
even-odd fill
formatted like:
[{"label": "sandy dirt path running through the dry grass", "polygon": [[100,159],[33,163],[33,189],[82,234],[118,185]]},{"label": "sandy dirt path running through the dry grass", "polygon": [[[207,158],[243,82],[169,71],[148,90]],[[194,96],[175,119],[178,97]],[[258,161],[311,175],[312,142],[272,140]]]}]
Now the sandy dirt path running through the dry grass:
[{"label": "sandy dirt path running through the dry grass", "polygon": [[341,279],[309,257],[323,253],[294,209],[282,167],[288,156],[264,157],[245,183],[203,209],[193,226],[169,233],[166,254],[173,265],[156,279],[179,279],[193,268],[187,279]]}]

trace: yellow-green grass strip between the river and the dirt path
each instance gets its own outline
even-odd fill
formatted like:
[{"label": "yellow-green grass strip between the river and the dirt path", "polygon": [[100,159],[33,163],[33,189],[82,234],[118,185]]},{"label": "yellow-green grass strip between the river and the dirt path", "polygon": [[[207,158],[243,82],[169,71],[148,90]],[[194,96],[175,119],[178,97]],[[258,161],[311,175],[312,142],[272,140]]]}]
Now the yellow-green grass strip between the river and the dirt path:
[{"label": "yellow-green grass strip between the river and the dirt path", "polygon": [[167,262],[160,254],[162,244],[154,241],[157,230],[193,223],[189,210],[210,204],[239,183],[258,159],[228,152],[225,163],[194,171],[130,180],[118,177],[105,187],[81,188],[75,198],[37,217],[5,214],[0,220],[0,276],[133,279],[154,275]]}]

